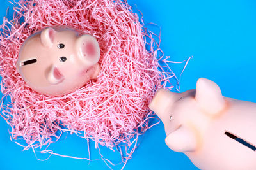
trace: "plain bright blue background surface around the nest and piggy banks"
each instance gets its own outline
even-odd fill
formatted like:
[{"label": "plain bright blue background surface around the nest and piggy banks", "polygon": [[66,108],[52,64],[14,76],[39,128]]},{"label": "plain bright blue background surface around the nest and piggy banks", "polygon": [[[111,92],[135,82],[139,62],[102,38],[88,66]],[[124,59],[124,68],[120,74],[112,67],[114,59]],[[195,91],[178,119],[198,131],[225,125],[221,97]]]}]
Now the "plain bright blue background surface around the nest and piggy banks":
[{"label": "plain bright blue background surface around the nest and piggy banks", "polygon": [[[154,22],[162,28],[161,48],[165,55],[177,61],[194,56],[182,76],[180,91],[194,89],[196,80],[205,77],[218,83],[224,96],[256,102],[255,1],[128,0],[128,3],[142,11],[145,23]],[[0,0],[0,4],[3,18],[10,5],[5,0]],[[179,75],[182,66],[173,64],[173,71]],[[22,147],[10,141],[3,118],[0,128],[0,169],[108,169],[102,160],[88,165],[86,160],[52,156],[41,162],[31,150],[22,152]],[[196,169],[186,155],[169,150],[164,138],[162,123],[148,130],[125,169]],[[99,158],[93,143],[90,145],[92,159]],[[67,135],[52,147],[67,155],[86,157],[87,154],[86,141],[75,135]],[[118,154],[101,149],[111,160],[119,158]]]}]

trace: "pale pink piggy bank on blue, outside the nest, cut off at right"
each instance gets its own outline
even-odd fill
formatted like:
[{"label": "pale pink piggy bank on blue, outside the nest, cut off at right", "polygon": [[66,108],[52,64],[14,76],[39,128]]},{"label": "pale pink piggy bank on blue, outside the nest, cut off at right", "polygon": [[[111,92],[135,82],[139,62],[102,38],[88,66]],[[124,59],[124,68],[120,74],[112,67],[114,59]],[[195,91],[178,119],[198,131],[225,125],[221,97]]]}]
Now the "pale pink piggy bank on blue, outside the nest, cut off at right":
[{"label": "pale pink piggy bank on blue, outside the nest, cut off at right", "polygon": [[166,145],[200,169],[256,169],[256,103],[223,97],[200,78],[195,90],[160,89],[150,109],[163,121]]}]

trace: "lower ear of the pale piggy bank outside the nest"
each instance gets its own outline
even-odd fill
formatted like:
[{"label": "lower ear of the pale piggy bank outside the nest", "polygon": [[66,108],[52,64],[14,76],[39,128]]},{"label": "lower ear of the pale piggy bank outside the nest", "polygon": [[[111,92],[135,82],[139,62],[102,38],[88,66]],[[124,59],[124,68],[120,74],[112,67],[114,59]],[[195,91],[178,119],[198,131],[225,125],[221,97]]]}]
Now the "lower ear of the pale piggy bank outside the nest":
[{"label": "lower ear of the pale piggy bank outside the nest", "polygon": [[187,127],[180,126],[165,138],[166,145],[175,152],[193,152],[196,150],[196,135]]}]

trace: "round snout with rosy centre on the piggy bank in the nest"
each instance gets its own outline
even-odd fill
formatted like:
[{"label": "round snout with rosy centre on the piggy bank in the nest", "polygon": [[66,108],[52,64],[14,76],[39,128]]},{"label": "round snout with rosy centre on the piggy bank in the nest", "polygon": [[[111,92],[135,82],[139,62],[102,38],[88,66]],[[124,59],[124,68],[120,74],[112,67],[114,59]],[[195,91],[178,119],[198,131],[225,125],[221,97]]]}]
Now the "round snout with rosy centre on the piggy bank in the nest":
[{"label": "round snout with rosy centre on the piggy bank in the nest", "polygon": [[76,50],[79,58],[86,66],[93,66],[100,59],[100,47],[95,37],[83,35],[76,41]]}]

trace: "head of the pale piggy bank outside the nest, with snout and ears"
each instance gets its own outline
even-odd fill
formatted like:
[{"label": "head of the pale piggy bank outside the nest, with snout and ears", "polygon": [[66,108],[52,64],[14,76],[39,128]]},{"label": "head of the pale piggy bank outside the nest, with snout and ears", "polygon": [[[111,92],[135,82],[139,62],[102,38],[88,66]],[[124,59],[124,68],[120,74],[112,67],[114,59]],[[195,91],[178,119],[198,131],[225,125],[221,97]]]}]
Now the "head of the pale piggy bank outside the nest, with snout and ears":
[{"label": "head of the pale piggy bank outside the nest, with snout and ears", "polygon": [[166,145],[176,152],[195,152],[209,122],[220,114],[226,103],[220,87],[200,78],[196,89],[173,93],[160,89],[149,108],[161,118],[166,131]]}]

